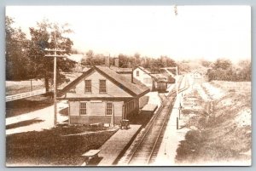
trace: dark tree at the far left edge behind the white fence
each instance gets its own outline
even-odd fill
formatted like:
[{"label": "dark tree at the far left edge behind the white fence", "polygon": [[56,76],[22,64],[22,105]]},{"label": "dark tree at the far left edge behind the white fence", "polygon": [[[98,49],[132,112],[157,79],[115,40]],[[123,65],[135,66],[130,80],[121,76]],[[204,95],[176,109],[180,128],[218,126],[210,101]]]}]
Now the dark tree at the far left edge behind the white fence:
[{"label": "dark tree at the far left edge behind the white fence", "polygon": [[5,19],[6,33],[6,79],[24,80],[31,78],[32,62],[27,57],[28,40],[20,28],[14,28],[14,20]]}]

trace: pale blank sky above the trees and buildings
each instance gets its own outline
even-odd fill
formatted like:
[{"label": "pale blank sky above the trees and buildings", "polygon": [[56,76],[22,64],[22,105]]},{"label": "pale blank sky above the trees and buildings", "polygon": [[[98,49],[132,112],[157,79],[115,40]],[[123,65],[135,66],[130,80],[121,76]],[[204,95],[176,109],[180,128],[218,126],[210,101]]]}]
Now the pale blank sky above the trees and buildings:
[{"label": "pale blank sky above the trees and buildings", "polygon": [[6,15],[29,35],[49,19],[68,23],[73,48],[174,60],[251,59],[249,6],[8,6]]}]

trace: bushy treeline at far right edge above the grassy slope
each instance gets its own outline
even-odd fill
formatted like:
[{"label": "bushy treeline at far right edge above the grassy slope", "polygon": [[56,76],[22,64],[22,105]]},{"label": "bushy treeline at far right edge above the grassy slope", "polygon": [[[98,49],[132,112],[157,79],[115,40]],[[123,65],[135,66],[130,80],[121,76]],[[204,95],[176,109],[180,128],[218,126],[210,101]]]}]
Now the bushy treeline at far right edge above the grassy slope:
[{"label": "bushy treeline at far right edge above the grassy slope", "polygon": [[230,60],[218,59],[214,63],[204,62],[204,66],[212,66],[208,69],[207,75],[209,81],[223,80],[223,81],[251,81],[252,68],[250,60],[241,60],[237,65]]}]

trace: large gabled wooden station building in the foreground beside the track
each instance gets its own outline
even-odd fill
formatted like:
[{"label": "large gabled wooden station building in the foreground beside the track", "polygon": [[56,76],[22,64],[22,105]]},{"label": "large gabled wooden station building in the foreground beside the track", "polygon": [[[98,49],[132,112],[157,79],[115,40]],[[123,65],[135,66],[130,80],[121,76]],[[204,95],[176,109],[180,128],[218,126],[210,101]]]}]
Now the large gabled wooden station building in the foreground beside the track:
[{"label": "large gabled wooden station building in the foreground beside the track", "polygon": [[115,123],[139,110],[139,99],[149,92],[106,66],[93,66],[61,90],[68,100],[69,123]]}]

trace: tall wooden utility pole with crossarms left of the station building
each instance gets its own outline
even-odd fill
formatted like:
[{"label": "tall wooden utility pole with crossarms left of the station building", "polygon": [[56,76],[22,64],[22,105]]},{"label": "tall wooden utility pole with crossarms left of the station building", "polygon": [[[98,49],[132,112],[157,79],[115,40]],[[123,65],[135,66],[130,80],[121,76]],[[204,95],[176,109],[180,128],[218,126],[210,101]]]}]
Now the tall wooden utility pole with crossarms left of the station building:
[{"label": "tall wooden utility pole with crossarms left of the station building", "polygon": [[46,48],[44,51],[46,52],[54,52],[55,54],[45,54],[45,57],[54,57],[54,125],[56,126],[57,124],[57,57],[66,57],[65,55],[57,55],[57,52],[65,52],[63,49],[57,48],[57,39],[56,36],[55,38],[55,48],[49,49]]}]

